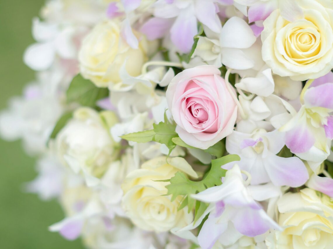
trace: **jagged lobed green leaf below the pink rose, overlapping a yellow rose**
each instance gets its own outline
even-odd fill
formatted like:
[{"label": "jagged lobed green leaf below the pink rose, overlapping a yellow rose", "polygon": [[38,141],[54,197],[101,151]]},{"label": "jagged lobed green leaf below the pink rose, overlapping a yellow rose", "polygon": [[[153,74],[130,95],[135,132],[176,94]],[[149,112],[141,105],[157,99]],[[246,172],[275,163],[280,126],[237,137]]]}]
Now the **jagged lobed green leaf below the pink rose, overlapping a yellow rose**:
[{"label": "jagged lobed green leaf below the pink rose, overlapping a yellow rose", "polygon": [[208,205],[194,200],[191,198],[191,194],[196,194],[207,188],[221,185],[221,177],[224,177],[226,173],[226,170],[222,169],[221,166],[239,160],[240,158],[238,155],[226,155],[212,160],[210,170],[205,174],[201,181],[191,181],[187,179],[183,172],[177,172],[174,177],[170,179],[170,184],[166,186],[168,190],[167,195],[171,195],[171,201],[174,201],[178,196],[183,196],[183,200],[178,209],[187,206],[188,211],[190,212],[195,207],[195,222],[203,214]]}]

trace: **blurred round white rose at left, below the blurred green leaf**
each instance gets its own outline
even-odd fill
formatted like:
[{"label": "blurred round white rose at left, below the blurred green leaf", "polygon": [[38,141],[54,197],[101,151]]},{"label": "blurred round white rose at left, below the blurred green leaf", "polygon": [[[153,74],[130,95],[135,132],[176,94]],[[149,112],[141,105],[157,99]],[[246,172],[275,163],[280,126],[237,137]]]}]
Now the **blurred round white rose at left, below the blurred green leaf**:
[{"label": "blurred round white rose at left, below the blurred green leaf", "polygon": [[81,172],[89,186],[99,183],[99,178],[118,156],[118,143],[108,131],[116,122],[112,112],[79,108],[56,137],[60,160],[74,173]]}]

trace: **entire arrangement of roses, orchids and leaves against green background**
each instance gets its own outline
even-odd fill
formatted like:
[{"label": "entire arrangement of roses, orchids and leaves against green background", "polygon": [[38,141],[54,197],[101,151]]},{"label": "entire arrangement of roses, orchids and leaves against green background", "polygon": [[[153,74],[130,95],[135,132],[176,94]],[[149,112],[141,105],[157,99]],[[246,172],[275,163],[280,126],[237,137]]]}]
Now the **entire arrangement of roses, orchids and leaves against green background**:
[{"label": "entire arrangement of roses, orchids and leaves against green background", "polygon": [[87,248],[331,248],[331,0],[48,0],[1,135]]}]

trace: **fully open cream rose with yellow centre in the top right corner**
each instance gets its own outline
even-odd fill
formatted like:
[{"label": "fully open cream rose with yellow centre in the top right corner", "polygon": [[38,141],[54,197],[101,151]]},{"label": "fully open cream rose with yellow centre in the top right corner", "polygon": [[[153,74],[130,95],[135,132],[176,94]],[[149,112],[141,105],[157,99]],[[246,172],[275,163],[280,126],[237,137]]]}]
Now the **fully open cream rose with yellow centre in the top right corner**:
[{"label": "fully open cream rose with yellow centre in the top right corner", "polygon": [[295,2],[296,20],[284,19],[286,13],[277,9],[264,21],[262,58],[280,76],[316,79],[333,67],[332,10],[316,0]]}]

